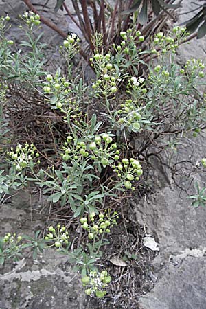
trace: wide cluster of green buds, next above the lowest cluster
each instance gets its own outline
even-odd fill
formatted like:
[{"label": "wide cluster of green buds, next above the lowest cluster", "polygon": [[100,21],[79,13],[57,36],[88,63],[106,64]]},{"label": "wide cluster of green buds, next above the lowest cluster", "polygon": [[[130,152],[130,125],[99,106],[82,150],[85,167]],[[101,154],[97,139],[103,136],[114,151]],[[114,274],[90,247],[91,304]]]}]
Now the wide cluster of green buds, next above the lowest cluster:
[{"label": "wide cluster of green buds, next above the lowest cluster", "polygon": [[117,225],[117,212],[114,211],[111,214],[111,209],[106,209],[104,214],[99,214],[98,218],[95,218],[95,213],[89,214],[89,220],[87,217],[80,218],[82,228],[87,230],[88,238],[93,240],[98,234],[110,233],[111,227]]}]

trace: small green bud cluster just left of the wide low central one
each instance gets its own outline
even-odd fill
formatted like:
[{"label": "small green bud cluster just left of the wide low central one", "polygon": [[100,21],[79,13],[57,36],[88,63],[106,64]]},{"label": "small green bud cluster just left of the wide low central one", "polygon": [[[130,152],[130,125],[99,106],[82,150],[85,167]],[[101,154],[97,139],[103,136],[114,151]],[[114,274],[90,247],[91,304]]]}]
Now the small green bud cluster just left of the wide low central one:
[{"label": "small green bud cluster just left of the wide low central one", "polygon": [[45,236],[45,240],[53,242],[52,246],[55,246],[58,249],[64,247],[64,245],[69,244],[69,232],[66,230],[66,227],[61,227],[57,225],[57,229],[52,227],[48,228],[49,233]]}]

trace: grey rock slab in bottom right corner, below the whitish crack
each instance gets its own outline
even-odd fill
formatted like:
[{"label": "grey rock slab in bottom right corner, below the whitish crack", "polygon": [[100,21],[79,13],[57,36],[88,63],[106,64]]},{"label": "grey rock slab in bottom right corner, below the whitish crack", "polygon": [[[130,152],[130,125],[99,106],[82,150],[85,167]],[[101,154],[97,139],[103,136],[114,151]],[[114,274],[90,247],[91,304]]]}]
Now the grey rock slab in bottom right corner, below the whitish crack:
[{"label": "grey rock slab in bottom right corner, below the whitish crack", "polygon": [[205,258],[187,257],[176,268],[169,264],[159,274],[155,288],[140,299],[141,309],[204,309]]}]

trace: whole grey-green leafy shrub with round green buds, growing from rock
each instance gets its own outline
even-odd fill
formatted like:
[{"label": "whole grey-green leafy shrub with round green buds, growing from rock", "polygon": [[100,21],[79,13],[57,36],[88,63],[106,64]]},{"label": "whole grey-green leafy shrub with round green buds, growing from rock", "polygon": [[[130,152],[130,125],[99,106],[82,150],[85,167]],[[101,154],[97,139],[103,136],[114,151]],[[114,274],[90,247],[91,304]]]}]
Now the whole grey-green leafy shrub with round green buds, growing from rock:
[{"label": "whole grey-green leafy shrub with round green buds, growing from rock", "polygon": [[[36,234],[35,241],[7,235],[1,244],[1,263],[6,256],[20,256],[26,247],[34,249],[34,256],[47,246],[55,247],[78,266],[87,295],[103,297],[111,277],[105,270],[100,272],[95,263],[102,254],[100,247],[108,243],[103,236],[117,224],[117,212],[109,209],[111,201],[136,187],[138,190],[150,147],[156,145],[159,154],[170,146],[171,138],[181,139],[204,128],[205,99],[197,91],[196,98],[190,96],[199,78],[204,77],[204,65],[195,59],[184,67],[175,65],[176,49],[187,36],[185,29],[175,27],[170,36],[159,32],[152,49],[141,51],[137,46],[144,36],[129,28],[120,33],[121,41],[111,47],[112,51],[103,52],[101,35],[91,38],[95,49],[90,62],[96,78],[85,84],[83,76],[73,76],[72,60],[80,48],[76,35],[69,34],[60,47],[67,74],[60,68],[56,73],[48,72],[45,46],[40,43],[41,36],[34,36],[40,25],[38,14],[28,12],[21,19],[28,38],[21,46],[28,52],[13,49],[14,41],[5,36],[9,18],[1,17],[3,106],[6,91],[10,89],[12,95],[12,89],[21,84],[23,89],[40,93],[43,106],[60,118],[62,131],[55,135],[60,129],[54,126],[54,143],[48,149],[38,146],[41,143],[37,141],[37,145],[19,143],[7,152],[0,194],[3,198],[10,187],[16,189],[33,181],[48,201],[71,211],[88,242],[86,248],[71,253],[69,231],[60,225],[49,227],[43,239],[38,240]],[[146,65],[140,55],[157,58],[155,67]],[[134,139],[139,140],[138,149],[130,146]],[[23,244],[23,239],[29,244]]]}]

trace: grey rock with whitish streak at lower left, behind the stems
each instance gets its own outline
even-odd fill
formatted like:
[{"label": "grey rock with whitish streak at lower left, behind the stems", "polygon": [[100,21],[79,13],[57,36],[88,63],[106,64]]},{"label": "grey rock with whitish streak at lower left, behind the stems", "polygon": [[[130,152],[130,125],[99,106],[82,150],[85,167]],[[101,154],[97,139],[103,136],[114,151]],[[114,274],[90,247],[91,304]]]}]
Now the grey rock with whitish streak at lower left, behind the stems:
[{"label": "grey rock with whitish streak at lower left, behind the stems", "polygon": [[[31,204],[26,192],[8,201],[10,204],[0,205],[0,237],[8,232],[34,237],[36,230],[48,224],[46,214],[40,219],[34,211],[39,202]],[[80,275],[71,271],[67,255],[55,249],[45,249],[37,260],[27,255],[19,262],[10,260],[0,266],[0,295],[1,309],[86,308]]]}]

